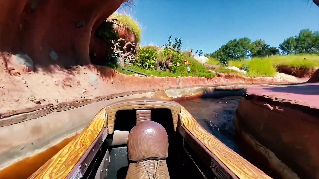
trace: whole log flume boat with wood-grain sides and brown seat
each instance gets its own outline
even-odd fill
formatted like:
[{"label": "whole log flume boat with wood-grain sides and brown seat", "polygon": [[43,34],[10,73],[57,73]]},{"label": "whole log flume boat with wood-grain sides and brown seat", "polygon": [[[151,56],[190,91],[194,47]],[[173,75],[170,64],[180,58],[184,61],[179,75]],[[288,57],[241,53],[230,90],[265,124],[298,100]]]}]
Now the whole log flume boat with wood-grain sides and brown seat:
[{"label": "whole log flume boat with wood-grain sides and brown seat", "polygon": [[29,179],[271,178],[174,101],[138,98],[101,109]]}]

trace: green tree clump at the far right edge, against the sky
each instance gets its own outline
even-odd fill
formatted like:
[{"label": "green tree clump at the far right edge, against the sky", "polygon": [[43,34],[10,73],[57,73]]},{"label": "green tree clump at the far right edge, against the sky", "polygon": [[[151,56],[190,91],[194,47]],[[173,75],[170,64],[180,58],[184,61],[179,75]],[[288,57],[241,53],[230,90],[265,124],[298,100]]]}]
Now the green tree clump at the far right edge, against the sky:
[{"label": "green tree clump at the far right edge, against the sky", "polygon": [[285,39],[279,48],[282,54],[319,54],[319,31],[303,29],[298,36]]}]

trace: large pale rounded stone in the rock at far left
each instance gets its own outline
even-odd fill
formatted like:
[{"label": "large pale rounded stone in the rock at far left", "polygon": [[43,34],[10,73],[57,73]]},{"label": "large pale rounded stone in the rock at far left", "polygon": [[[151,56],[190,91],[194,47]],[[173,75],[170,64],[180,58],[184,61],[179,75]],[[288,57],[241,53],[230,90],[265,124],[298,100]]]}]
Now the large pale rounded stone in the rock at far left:
[{"label": "large pale rounded stone in the rock at far left", "polygon": [[8,61],[8,68],[11,75],[34,71],[33,61],[27,54],[12,55]]}]

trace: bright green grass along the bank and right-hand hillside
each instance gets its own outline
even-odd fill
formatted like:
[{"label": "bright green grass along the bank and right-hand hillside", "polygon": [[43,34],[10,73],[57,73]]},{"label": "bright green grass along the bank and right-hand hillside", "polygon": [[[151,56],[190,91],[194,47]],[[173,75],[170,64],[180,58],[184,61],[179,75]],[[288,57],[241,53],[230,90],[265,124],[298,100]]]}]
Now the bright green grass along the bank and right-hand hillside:
[{"label": "bright green grass along the bank and right-hand hillside", "polygon": [[[306,60],[304,59],[306,58]],[[205,76],[211,78],[216,76],[207,70],[202,64],[198,63],[196,59],[186,56],[184,60],[189,61],[189,67],[191,72],[187,72],[187,67],[181,65],[177,68],[175,73],[166,72],[166,71],[157,71],[157,70],[145,70],[136,66],[130,66],[129,69],[136,70],[142,73],[145,73],[149,76],[174,76],[174,77],[183,77],[183,76]],[[208,64],[219,65],[219,62],[215,59],[209,59]],[[250,61],[229,61],[229,66],[235,66],[238,68],[243,68],[246,66],[248,74],[242,74],[235,70],[227,69],[226,67],[221,67],[215,69],[214,71],[219,73],[224,73],[226,75],[233,76],[249,76],[249,77],[274,77],[277,73],[276,66],[285,65],[294,68],[316,68],[319,67],[319,55],[287,55],[287,56],[272,56],[266,58],[253,58]],[[107,65],[112,68],[115,68],[117,71],[132,75],[133,72],[122,70],[116,68],[114,65]],[[248,67],[247,67],[248,66]]]}]

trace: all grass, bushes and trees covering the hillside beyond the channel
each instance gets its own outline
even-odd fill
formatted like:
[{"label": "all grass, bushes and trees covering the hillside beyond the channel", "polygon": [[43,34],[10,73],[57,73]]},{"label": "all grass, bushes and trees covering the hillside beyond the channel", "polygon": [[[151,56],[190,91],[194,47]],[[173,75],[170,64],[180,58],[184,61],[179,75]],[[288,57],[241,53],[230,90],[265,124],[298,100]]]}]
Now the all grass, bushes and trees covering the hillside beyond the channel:
[{"label": "all grass, bushes and trees covering the hillside beyond the channel", "polygon": [[[117,24],[113,27],[120,32],[122,28],[134,35],[136,42],[141,39],[141,28],[136,20],[129,15],[114,13],[109,19],[117,19]],[[126,37],[123,37],[126,38]],[[114,38],[115,39],[115,38]],[[130,37],[128,37],[130,39]],[[132,75],[134,72],[125,70],[134,70],[148,76],[204,76],[211,78],[215,76],[211,70],[206,69],[204,65],[193,58],[194,53],[182,50],[182,38],[172,39],[169,36],[167,44],[164,46],[144,46],[136,44],[135,60],[126,64],[125,68],[118,68],[114,61],[107,61],[106,66]],[[202,50],[195,54],[202,55]],[[211,54],[205,54],[209,59],[206,64],[218,67],[213,69],[215,72],[228,75],[245,75],[249,77],[274,77],[278,68],[281,66],[298,69],[315,69],[319,67],[319,32],[312,32],[309,29],[303,29],[294,37],[289,37],[279,47],[271,47],[264,40],[258,39],[251,41],[244,37],[233,39],[221,46]],[[116,56],[115,56],[116,58]],[[165,68],[162,67],[164,59]],[[168,61],[170,60],[170,61]],[[168,67],[168,63],[171,67]],[[190,71],[188,71],[188,65]],[[234,66],[247,71],[247,74],[228,69],[228,66]]]}]

